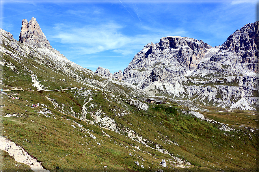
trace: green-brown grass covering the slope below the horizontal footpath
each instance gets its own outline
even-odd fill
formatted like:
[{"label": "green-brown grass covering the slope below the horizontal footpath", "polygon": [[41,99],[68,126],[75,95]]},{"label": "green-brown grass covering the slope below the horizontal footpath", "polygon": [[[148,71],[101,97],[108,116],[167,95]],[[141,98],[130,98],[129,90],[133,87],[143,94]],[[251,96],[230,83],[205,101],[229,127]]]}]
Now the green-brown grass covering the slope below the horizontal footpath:
[{"label": "green-brown grass covering the slope below the horizontal footpath", "polygon": [[[74,91],[73,94],[71,91]],[[240,127],[231,132],[219,130],[215,124],[202,121],[189,114],[183,114],[180,106],[152,104],[148,110],[143,111],[137,110],[135,106],[130,106],[123,96],[117,97],[120,100],[118,102],[122,103],[122,105],[124,104],[122,106],[118,102],[109,102],[104,99],[112,100],[112,97],[108,96],[109,94],[104,94],[101,91],[95,92],[96,95],[92,96],[91,104],[97,104],[96,108],[101,105],[103,112],[106,113],[105,115],[109,116],[110,114],[110,117],[113,117],[121,131],[126,130],[126,128],[135,131],[138,137],[141,136],[142,139],[147,140],[146,144],[149,147],[137,142],[137,138],[135,140],[129,139],[126,136],[127,133],[120,132],[121,134],[119,134],[118,132],[103,129],[110,136],[107,137],[98,125],[94,126],[70,115],[65,115],[66,111],[71,111],[70,107],[72,105],[78,104],[78,107],[81,107],[82,102],[87,101],[85,98],[83,98],[84,101],[79,99],[81,93],[77,93],[77,89],[42,92],[13,91],[12,94],[19,94],[20,100],[3,96],[4,108],[12,105],[12,109],[8,110],[8,113],[16,114],[20,111],[21,113],[18,114],[21,117],[1,117],[3,126],[1,131],[5,131],[1,134],[14,141],[17,145],[21,145],[29,154],[43,162],[42,165],[46,169],[51,171],[55,171],[57,166],[59,171],[73,171],[73,169],[79,169],[79,171],[147,170],[136,167],[134,161],[136,161],[137,155],[144,157],[144,162],[139,161],[143,163],[144,167],[149,166],[152,169],[157,169],[161,159],[172,159],[172,157],[152,149],[156,148],[156,146],[167,150],[167,152],[178,158],[191,162],[192,165],[195,165],[194,167],[191,166],[191,171],[197,168],[201,171],[203,169],[215,171],[218,166],[223,166],[221,169],[224,171],[247,171],[249,167],[256,169],[254,158],[258,159],[257,133]],[[78,95],[78,97],[75,95]],[[66,105],[64,108],[53,106],[46,99],[46,96],[55,99],[59,105]],[[37,113],[42,109],[41,106],[38,106],[38,108],[26,106],[30,105],[29,101],[32,98],[35,98],[40,104],[47,105],[47,109],[53,114],[48,114],[50,117],[46,117]],[[24,99],[27,99],[28,102]],[[9,106],[6,106],[8,104]],[[124,109],[125,111],[130,111],[131,114],[120,117],[116,116],[113,113],[114,111],[110,111],[110,109],[117,109],[117,111]],[[92,110],[97,111],[98,108]],[[73,121],[81,124],[85,130],[82,130]],[[97,138],[92,139],[86,131],[94,134]],[[247,133],[247,135],[244,135],[244,133]],[[250,134],[251,139],[249,139],[248,134]],[[24,141],[24,139],[29,140],[29,142]],[[174,145],[168,140],[180,146]],[[97,142],[101,143],[101,145],[97,145]],[[131,145],[138,146],[141,151]],[[235,149],[231,148],[231,145]],[[136,156],[131,157],[130,153],[136,154]],[[243,156],[246,156],[245,160],[242,160]],[[82,157],[84,157],[83,160]],[[89,161],[90,159],[91,161]],[[105,165],[103,164],[108,167],[104,169],[103,166]],[[179,171],[184,170],[175,167],[176,164],[174,163],[168,162],[167,164],[172,164],[169,165],[168,171],[172,168]]]}]

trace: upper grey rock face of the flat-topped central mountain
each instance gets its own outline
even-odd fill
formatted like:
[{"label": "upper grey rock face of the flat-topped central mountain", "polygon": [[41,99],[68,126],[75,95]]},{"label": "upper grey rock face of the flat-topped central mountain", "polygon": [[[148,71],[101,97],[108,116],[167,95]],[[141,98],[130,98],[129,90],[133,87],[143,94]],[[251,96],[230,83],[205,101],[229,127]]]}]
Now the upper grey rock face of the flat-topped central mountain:
[{"label": "upper grey rock face of the flat-topped central mountain", "polygon": [[[144,46],[134,56],[123,75],[133,68],[156,66],[157,62],[163,62],[163,68],[167,71],[184,75],[188,70],[196,68],[209,48],[211,46],[208,46],[202,40],[177,36],[163,37],[159,43],[153,44],[151,42]],[[178,68],[176,69],[175,66],[178,66]]]}]

